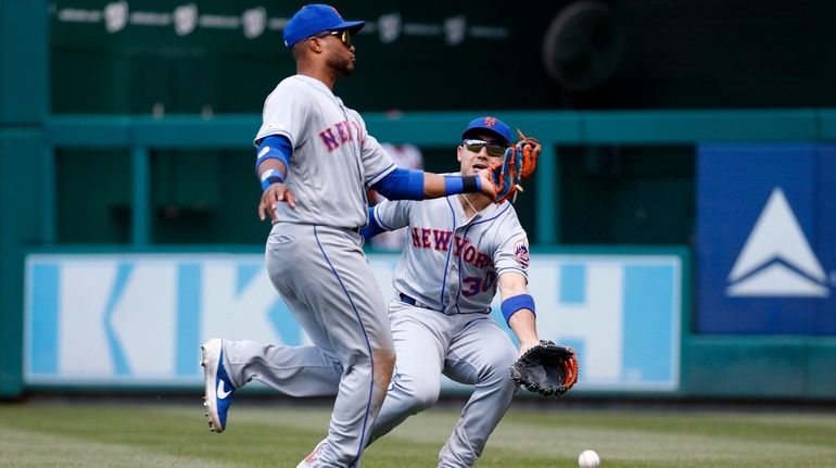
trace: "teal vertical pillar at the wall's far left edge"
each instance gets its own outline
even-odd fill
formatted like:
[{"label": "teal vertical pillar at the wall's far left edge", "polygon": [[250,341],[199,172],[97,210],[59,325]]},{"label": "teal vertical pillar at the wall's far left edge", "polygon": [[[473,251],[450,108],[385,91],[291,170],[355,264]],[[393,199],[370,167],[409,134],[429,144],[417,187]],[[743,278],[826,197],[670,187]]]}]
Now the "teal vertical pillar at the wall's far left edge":
[{"label": "teal vertical pillar at the wall's far left edge", "polygon": [[51,165],[47,1],[0,0],[0,395],[23,390],[21,337],[24,249],[43,243],[41,208]]}]

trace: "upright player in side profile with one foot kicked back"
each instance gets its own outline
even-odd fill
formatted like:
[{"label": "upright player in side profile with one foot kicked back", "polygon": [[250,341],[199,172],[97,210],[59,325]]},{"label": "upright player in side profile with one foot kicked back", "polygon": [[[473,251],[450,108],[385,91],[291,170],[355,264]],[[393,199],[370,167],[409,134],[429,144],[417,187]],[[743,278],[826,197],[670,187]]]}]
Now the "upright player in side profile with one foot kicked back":
[{"label": "upright player in side profile with one foot kicked back", "polygon": [[292,396],[337,395],[328,437],[300,467],[357,467],[392,377],[385,303],[363,252],[368,189],[390,200],[493,197],[486,172],[443,176],[396,167],[360,115],[333,94],[352,73],[353,35],[330,5],[309,4],[284,27],[296,75],[266,99],[255,137],[262,219],[274,223],[267,273],[314,345],[210,339],[201,346],[210,427],[223,432],[235,390],[252,379]]}]

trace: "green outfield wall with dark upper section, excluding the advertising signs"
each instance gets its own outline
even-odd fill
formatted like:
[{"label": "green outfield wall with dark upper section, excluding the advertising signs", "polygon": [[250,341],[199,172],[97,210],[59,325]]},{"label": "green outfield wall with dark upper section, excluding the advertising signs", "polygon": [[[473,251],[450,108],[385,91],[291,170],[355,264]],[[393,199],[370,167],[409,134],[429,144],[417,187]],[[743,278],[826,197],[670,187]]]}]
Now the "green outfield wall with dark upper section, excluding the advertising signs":
[{"label": "green outfield wall with dark upper section, excluding the advertising signs", "polygon": [[[205,20],[183,29],[170,15],[179,2],[0,0],[0,399],[39,390],[22,371],[28,253],[264,241],[251,141],[264,96],[292,71],[276,38],[292,9],[197,3],[186,7]],[[835,337],[695,333],[691,260],[696,144],[836,141],[836,8],[775,0],[753,15],[743,0],[720,13],[698,0],[603,2],[616,40],[591,59],[611,56],[613,68],[583,89],[542,63],[544,31],[569,3],[531,2],[511,16],[451,2],[338,4],[370,22],[357,38],[363,66],[339,93],[381,141],[418,146],[430,170],[453,168],[474,115],[540,138],[518,203],[539,249],[684,252],[681,384],[650,396],[836,400]],[[257,36],[244,14],[266,20]],[[463,93],[471,73],[482,79]]]}]

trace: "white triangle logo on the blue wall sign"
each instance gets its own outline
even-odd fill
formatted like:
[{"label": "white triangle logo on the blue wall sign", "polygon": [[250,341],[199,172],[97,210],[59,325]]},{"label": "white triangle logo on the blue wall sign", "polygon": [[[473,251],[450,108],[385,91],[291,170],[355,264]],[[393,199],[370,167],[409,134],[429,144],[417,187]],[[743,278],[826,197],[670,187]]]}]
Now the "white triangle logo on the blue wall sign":
[{"label": "white triangle logo on the blue wall sign", "polygon": [[781,187],[775,187],[729,274],[730,296],[826,298],[827,277]]}]

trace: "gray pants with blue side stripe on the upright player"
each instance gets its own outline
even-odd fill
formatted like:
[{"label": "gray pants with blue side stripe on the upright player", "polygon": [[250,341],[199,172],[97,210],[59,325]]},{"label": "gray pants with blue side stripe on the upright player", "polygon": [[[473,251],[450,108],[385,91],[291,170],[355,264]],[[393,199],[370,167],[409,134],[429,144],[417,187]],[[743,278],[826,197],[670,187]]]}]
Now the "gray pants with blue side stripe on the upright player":
[{"label": "gray pants with blue side stripe on the upright player", "polygon": [[337,395],[317,467],[359,466],[385,396],[394,355],[380,289],[349,229],[278,223],[267,240],[267,273],[314,343],[275,346],[224,340],[238,388],[252,379],[292,396]]}]

